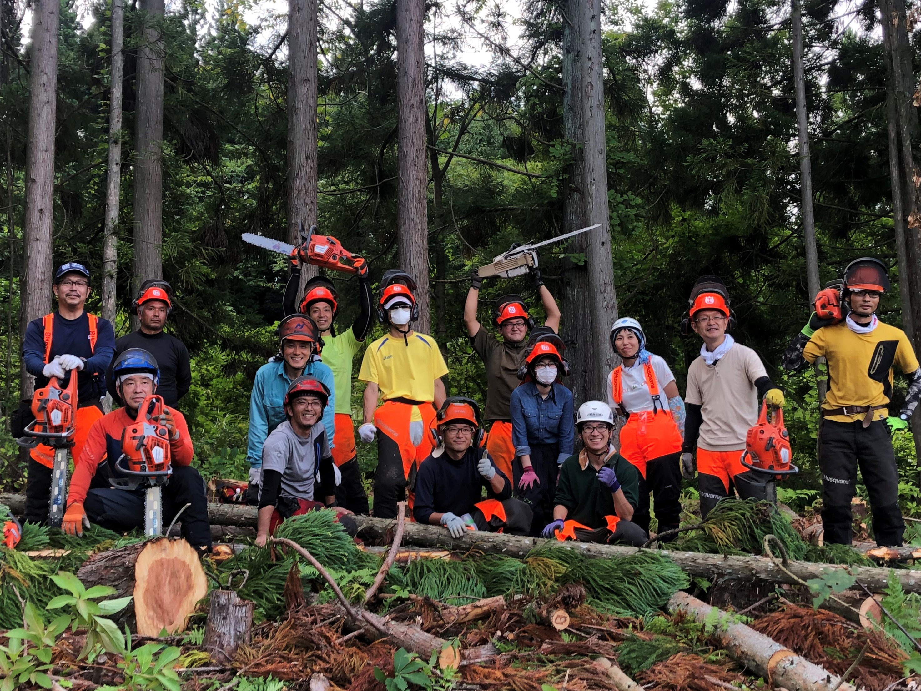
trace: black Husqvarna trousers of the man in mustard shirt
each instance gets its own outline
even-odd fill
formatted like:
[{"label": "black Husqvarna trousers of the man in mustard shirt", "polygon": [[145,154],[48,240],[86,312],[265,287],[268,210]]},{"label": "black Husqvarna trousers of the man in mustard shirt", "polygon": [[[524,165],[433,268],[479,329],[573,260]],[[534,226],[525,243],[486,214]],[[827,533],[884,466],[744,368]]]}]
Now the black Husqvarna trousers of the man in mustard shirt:
[{"label": "black Husqvarna trousers of the man in mustard shirt", "polygon": [[851,499],[857,485],[857,468],[863,475],[873,511],[877,545],[902,545],[905,523],[899,508],[899,472],[892,437],[884,420],[863,423],[819,424],[819,467],[822,469],[822,528],[824,540],[850,545]]}]

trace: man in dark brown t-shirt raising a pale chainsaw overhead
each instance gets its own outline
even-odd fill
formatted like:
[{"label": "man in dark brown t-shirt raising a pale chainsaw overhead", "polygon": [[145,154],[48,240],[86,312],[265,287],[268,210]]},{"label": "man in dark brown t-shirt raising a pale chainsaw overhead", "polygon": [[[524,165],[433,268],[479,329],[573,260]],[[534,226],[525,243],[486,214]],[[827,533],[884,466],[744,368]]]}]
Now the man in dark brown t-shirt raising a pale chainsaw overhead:
[{"label": "man in dark brown t-shirt raising a pale chainsaw overhead", "polygon": [[[556,333],[560,328],[560,310],[556,306],[556,300],[543,285],[539,269],[532,267],[529,275],[547,315],[543,324]],[[498,327],[502,340],[484,329],[476,318],[483,280],[474,269],[467,301],[464,303],[463,322],[473,350],[483,359],[486,369],[484,419],[491,425],[489,436],[486,438],[486,449],[496,467],[506,477],[511,477],[515,444],[512,443],[512,418],[508,406],[512,391],[520,383],[518,370],[524,362],[528,330],[534,327],[534,319],[530,316],[523,299],[518,295],[507,295],[496,301],[493,313],[493,322]]]}]

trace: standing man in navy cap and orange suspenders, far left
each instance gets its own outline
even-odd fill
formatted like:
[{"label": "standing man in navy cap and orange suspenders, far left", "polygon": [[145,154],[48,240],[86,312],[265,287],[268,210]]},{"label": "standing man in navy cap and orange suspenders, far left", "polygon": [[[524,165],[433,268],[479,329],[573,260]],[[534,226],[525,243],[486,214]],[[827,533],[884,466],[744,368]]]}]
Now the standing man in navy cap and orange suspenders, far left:
[{"label": "standing man in navy cap and orange suspenders, far left", "polygon": [[[52,377],[62,385],[77,374],[76,428],[72,458],[80,458],[90,427],[102,417],[100,399],[106,394],[105,371],[115,351],[115,332],[108,320],[84,309],[92,292],[89,270],[70,262],[54,274],[52,286],[58,309],[29,322],[22,344],[26,371],[35,377],[35,388],[48,384]],[[30,413],[29,413],[30,416]],[[39,444],[29,452],[26,482],[26,521],[48,520],[54,451]]]}]

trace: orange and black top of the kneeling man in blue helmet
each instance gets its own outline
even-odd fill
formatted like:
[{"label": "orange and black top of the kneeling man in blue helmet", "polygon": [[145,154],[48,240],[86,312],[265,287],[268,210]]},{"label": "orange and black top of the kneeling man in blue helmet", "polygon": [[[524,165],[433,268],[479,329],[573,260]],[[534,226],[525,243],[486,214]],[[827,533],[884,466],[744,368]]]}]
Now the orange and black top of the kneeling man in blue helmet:
[{"label": "orange and black top of the kneeling man in blue helmet", "polygon": [[[169,442],[170,458],[173,465],[190,465],[192,463],[192,438],[185,417],[170,408],[179,439]],[[128,414],[127,408],[113,410],[109,415],[100,417],[89,428],[87,443],[83,453],[77,459],[74,476],[70,481],[67,494],[67,506],[83,503],[87,491],[110,487],[111,478],[128,477],[115,470],[115,462],[122,455],[122,431],[134,422],[134,416]]]}]

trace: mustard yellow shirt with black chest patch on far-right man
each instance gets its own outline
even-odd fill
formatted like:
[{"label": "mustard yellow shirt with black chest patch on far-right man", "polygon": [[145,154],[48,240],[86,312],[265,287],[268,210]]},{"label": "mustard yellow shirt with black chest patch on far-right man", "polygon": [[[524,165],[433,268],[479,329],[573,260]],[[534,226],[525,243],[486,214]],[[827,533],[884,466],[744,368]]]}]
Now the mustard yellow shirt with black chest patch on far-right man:
[{"label": "mustard yellow shirt with black chest patch on far-right man", "polygon": [[[855,334],[845,322],[823,326],[809,340],[803,357],[828,360],[828,395],[823,408],[845,405],[888,405],[892,398],[892,367],[910,374],[918,359],[902,329],[882,322],[869,334]],[[886,408],[874,411],[873,419],[889,416]],[[864,414],[830,416],[835,422],[854,422]]]}]

